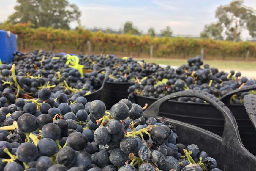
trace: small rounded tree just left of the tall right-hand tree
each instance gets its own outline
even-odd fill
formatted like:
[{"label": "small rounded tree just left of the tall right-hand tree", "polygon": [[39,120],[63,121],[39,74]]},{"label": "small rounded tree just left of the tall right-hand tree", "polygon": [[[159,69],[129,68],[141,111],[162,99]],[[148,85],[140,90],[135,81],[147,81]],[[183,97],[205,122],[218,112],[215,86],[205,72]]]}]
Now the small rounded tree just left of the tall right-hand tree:
[{"label": "small rounded tree just left of the tall right-hand tree", "polygon": [[223,32],[223,26],[221,23],[212,23],[204,27],[204,30],[203,32],[201,32],[200,37],[223,40],[224,37],[222,35],[222,32]]}]

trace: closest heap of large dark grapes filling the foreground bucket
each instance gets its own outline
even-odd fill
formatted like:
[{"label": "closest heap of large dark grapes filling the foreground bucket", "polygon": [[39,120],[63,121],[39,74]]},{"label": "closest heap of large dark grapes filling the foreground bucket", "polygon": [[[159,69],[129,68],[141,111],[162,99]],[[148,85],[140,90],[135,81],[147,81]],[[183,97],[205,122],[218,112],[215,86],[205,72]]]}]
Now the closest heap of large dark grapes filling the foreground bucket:
[{"label": "closest heap of large dark grapes filling the foreground bucket", "polygon": [[74,94],[59,103],[50,92],[42,88],[38,98],[0,108],[0,170],[217,169],[196,145],[178,143],[175,125],[144,118],[144,108],[128,99],[106,111],[100,100]]}]

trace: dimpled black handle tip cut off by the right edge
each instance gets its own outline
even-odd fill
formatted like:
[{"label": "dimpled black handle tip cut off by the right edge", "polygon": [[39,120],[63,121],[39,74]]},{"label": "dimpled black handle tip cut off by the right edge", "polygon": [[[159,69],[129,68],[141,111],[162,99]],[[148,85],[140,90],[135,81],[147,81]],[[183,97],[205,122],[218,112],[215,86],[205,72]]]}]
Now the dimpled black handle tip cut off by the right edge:
[{"label": "dimpled black handle tip cut off by the right edge", "polygon": [[244,107],[256,129],[256,95],[248,94],[244,96]]}]

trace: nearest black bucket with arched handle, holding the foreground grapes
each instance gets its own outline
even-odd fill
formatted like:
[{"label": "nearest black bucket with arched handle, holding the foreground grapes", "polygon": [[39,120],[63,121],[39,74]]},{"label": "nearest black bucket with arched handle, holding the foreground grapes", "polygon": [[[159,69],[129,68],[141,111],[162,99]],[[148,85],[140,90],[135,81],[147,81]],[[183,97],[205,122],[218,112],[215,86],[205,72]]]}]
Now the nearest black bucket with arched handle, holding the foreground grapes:
[{"label": "nearest black bucket with arched handle, holding the foreground grapes", "polygon": [[[155,117],[157,120],[160,120],[162,114],[159,110],[165,101],[188,96],[207,101],[213,108],[219,111],[225,120],[225,125],[222,137],[220,137],[197,126],[165,117],[167,122],[171,122],[176,126],[177,143],[182,143],[185,146],[196,144],[200,151],[206,151],[209,156],[216,159],[217,167],[223,171],[255,170],[256,156],[250,153],[241,142],[236,119],[227,106],[213,95],[198,90],[176,92],[153,103],[144,111],[143,116],[145,118]],[[171,111],[166,109],[166,112],[170,113]]]}]

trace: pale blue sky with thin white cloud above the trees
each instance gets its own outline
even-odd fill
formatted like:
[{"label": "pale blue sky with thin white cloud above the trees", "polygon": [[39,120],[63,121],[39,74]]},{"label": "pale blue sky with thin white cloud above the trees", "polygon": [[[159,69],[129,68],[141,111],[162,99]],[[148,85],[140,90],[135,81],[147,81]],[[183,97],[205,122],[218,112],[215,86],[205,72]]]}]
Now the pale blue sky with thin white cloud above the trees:
[{"label": "pale blue sky with thin white cloud above the trees", "polygon": [[[82,12],[85,28],[119,30],[130,21],[147,33],[153,27],[157,33],[170,26],[173,35],[200,36],[206,24],[216,22],[215,10],[230,0],[69,0]],[[14,12],[16,0],[0,0],[0,22]],[[244,5],[256,10],[256,0],[244,0]],[[77,23],[71,23],[75,28]],[[250,38],[248,31],[242,38]]]}]

